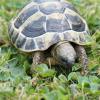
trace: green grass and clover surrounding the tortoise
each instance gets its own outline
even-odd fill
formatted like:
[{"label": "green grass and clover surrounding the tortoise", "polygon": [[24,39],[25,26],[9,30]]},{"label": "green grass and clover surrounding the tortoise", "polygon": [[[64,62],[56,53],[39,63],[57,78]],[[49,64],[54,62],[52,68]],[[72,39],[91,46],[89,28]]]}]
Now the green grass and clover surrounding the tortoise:
[{"label": "green grass and clover surrounding the tortoise", "polygon": [[0,0],[0,100],[99,100],[100,99],[100,0],[70,0],[86,19],[95,42],[86,47],[88,76],[81,76],[79,64],[69,75],[60,66],[37,66],[29,75],[30,57],[9,45],[8,24],[28,0]]}]

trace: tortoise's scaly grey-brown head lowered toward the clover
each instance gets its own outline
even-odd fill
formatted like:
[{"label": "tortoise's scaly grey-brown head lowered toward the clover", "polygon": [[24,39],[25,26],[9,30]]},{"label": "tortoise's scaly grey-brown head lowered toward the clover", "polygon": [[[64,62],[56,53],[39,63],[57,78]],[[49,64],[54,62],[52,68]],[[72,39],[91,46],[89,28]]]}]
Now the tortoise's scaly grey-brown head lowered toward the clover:
[{"label": "tortoise's scaly grey-brown head lowered toward the clover", "polygon": [[72,66],[76,59],[76,52],[69,42],[59,42],[52,49],[53,57],[63,66]]}]

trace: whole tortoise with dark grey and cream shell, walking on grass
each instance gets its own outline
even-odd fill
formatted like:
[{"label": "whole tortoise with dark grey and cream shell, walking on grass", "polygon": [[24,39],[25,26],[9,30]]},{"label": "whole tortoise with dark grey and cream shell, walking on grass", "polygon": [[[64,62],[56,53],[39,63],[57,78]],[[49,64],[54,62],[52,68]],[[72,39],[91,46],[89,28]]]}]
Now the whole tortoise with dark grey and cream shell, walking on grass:
[{"label": "whole tortoise with dark grey and cream shell, walking on grass", "polygon": [[9,37],[16,48],[32,53],[33,68],[50,57],[72,69],[78,58],[82,71],[87,72],[84,46],[91,43],[90,32],[85,19],[68,1],[32,0],[11,20]]}]

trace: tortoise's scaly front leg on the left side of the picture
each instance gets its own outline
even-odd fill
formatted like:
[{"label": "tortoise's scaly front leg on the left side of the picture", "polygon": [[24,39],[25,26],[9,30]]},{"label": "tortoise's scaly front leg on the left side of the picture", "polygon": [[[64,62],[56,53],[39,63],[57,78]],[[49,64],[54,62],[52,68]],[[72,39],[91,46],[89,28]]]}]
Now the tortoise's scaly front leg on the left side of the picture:
[{"label": "tortoise's scaly front leg on the left side of the picture", "polygon": [[31,67],[31,73],[34,72],[34,68],[38,65],[41,64],[45,61],[45,56],[44,56],[44,52],[42,51],[37,51],[33,54],[33,63],[32,63],[32,67]]}]

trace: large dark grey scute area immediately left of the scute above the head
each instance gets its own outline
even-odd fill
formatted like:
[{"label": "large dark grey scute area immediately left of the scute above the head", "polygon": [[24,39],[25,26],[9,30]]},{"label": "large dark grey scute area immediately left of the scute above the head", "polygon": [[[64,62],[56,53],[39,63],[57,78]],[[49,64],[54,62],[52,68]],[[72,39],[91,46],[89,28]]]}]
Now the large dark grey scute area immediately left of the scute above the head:
[{"label": "large dark grey scute area immediately left of the scute above the head", "polygon": [[38,20],[32,21],[23,29],[22,34],[25,35],[26,37],[31,37],[31,38],[45,34],[45,29],[43,26],[45,22],[46,22],[45,16],[40,17]]}]

